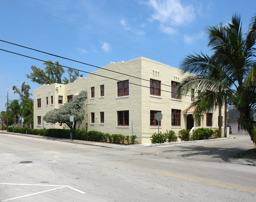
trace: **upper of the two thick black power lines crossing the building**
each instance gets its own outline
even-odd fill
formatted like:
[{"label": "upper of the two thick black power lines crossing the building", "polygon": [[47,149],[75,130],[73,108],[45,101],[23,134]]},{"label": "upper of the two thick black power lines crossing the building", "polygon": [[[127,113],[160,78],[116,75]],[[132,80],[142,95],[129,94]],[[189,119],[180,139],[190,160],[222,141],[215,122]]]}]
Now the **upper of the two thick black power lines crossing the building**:
[{"label": "upper of the two thick black power lines crossing the building", "polygon": [[[113,71],[113,70],[110,70],[110,69],[106,69],[106,68],[103,68],[103,67],[98,67],[98,66],[95,66],[95,65],[91,65],[91,64],[84,63],[84,62],[80,62],[80,61],[78,61],[78,60],[72,60],[72,59],[70,59],[70,58],[65,58],[65,57],[63,57],[63,56],[54,55],[54,54],[52,54],[52,53],[47,53],[47,52],[44,52],[44,51],[39,51],[39,50],[37,50],[37,49],[33,49],[33,48],[26,47],[26,46],[19,45],[19,44],[14,44],[14,43],[7,42],[7,41],[1,40],[1,39],[0,39],[0,41],[1,41],[1,42],[5,42],[5,43],[8,43],[8,44],[12,44],[12,45],[17,45],[17,46],[19,46],[19,47],[23,47],[23,48],[30,49],[30,50],[33,50],[33,51],[37,51],[37,52],[40,52],[40,53],[45,53],[45,54],[47,54],[47,55],[55,56],[55,57],[58,57],[58,58],[63,58],[63,59],[65,59],[65,60],[70,60],[70,61],[73,61],[73,62],[78,62],[78,63],[80,63],[80,64],[85,64],[85,65],[88,65],[88,66],[91,66],[91,67],[96,67],[96,68],[99,68],[99,69],[104,69],[104,70],[106,70],[106,71],[111,71],[111,72],[118,73],[118,74],[121,74],[121,75],[130,76],[130,77],[133,77],[133,78],[137,78],[137,79],[141,79],[141,80],[145,80],[145,81],[149,81],[149,82],[150,82],[150,80],[147,80],[147,79],[144,79],[144,78],[140,78],[140,77],[137,77],[137,76],[132,76],[132,75],[128,75],[128,74],[124,74],[124,73],[118,72],[118,71]],[[50,63],[50,62],[49,62],[49,63]],[[63,66],[63,67],[64,67],[64,66]],[[69,68],[69,67],[68,67],[68,68]],[[70,69],[72,69],[72,68],[70,68]],[[167,84],[161,84],[161,85],[172,87],[172,86],[167,85]],[[188,92],[189,92],[189,91],[188,91]]]}]

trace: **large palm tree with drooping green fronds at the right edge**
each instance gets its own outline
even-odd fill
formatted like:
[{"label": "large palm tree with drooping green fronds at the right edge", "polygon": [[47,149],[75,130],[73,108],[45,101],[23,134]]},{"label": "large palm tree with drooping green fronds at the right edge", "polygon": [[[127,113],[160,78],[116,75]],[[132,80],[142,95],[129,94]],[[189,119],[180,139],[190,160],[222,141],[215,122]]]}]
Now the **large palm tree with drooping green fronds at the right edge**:
[{"label": "large palm tree with drooping green fronds at the right edge", "polygon": [[[211,57],[189,55],[182,62],[182,70],[206,76],[209,81],[212,78],[212,72],[217,72],[219,75],[214,75],[212,79],[215,80],[216,84],[218,82],[223,83],[222,87],[219,85],[221,90],[219,93],[222,92],[222,98],[227,98],[236,106],[241,119],[251,120],[251,100],[240,101],[241,93],[244,93],[245,89],[243,81],[252,70],[252,64],[255,64],[256,49],[253,46],[256,43],[256,15],[252,18],[249,31],[246,34],[242,32],[239,15],[234,15],[232,22],[227,25],[219,24],[208,27],[208,34],[208,46],[213,51],[213,55]],[[194,60],[191,60],[192,58]],[[209,73],[206,69],[209,70]],[[181,85],[180,88],[182,87]],[[232,93],[232,89],[235,92]],[[217,91],[214,92],[217,93]],[[220,95],[219,98],[221,98]],[[214,106],[214,103],[218,101],[216,97],[216,99],[209,99],[205,102],[211,103],[208,106]],[[252,128],[247,127],[246,129],[252,137]]]}]

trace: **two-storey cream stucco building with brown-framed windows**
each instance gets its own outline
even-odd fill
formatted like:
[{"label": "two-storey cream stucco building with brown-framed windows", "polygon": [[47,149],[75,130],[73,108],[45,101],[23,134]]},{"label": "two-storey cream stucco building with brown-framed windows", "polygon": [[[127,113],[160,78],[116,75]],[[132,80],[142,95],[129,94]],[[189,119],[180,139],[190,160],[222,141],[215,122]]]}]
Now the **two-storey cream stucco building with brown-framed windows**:
[{"label": "two-storey cream stucco building with brown-framed windows", "polygon": [[182,99],[175,93],[176,85],[184,78],[179,69],[143,57],[111,62],[103,68],[111,71],[99,69],[70,84],[47,84],[35,89],[34,128],[43,128],[43,124],[46,129],[65,128],[58,123],[43,123],[43,116],[82,90],[87,91],[87,100],[85,119],[77,124],[78,129],[122,135],[133,132],[138,142],[148,143],[150,136],[158,132],[157,112],[163,115],[162,132],[174,130],[178,134],[181,129],[198,126],[218,128],[217,110],[200,120],[194,120],[192,112],[186,111],[193,102],[193,93]]}]

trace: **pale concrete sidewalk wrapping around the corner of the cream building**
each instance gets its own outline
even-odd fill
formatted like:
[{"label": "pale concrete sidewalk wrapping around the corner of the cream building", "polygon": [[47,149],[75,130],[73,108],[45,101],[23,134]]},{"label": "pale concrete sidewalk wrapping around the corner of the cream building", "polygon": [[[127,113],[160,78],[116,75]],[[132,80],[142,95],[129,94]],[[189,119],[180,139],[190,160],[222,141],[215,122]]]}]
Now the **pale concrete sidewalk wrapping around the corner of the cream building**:
[{"label": "pale concrete sidewalk wrapping around the corner of the cream building", "polygon": [[[20,135],[20,136],[29,136],[34,138],[42,138],[47,140],[56,140],[61,142],[69,142],[74,144],[84,144],[84,145],[91,145],[91,146],[98,146],[98,147],[108,147],[108,148],[127,148],[127,147],[153,147],[153,146],[167,146],[167,145],[173,145],[173,144],[186,144],[186,143],[195,143],[195,142],[206,142],[206,141],[219,141],[219,140],[226,140],[226,139],[232,139],[233,137],[229,138],[217,138],[217,139],[210,139],[210,140],[195,140],[195,141],[186,141],[186,142],[169,142],[169,143],[163,143],[163,144],[134,144],[134,145],[122,145],[122,144],[113,144],[113,143],[106,143],[106,142],[91,142],[91,141],[85,141],[85,140],[70,140],[70,139],[63,139],[63,138],[54,138],[54,137],[43,137],[41,135],[26,135],[22,133],[11,133],[7,131],[0,131],[0,133],[9,134],[9,135]],[[232,162],[233,164],[248,164],[248,165],[256,165],[256,159],[251,158],[234,158],[234,157],[228,157],[228,161]]]}]

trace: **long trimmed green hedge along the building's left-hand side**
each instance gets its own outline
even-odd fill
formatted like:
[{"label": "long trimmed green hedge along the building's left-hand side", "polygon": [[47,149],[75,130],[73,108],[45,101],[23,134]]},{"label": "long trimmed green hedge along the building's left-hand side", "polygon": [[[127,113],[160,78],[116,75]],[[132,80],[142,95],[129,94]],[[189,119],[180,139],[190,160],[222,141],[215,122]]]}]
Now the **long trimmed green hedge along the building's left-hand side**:
[{"label": "long trimmed green hedge along the building's left-hand side", "polygon": [[[19,127],[8,127],[8,132],[14,132],[15,133],[22,133],[22,128]],[[27,134],[31,135],[43,135],[43,129],[33,129],[33,128],[27,128]],[[26,128],[23,128],[23,133],[26,134]],[[45,136],[48,137],[56,137],[56,138],[64,138],[64,139],[70,139],[70,129],[46,129],[45,130]],[[112,134],[109,133],[102,133],[99,131],[85,131],[85,130],[78,130],[74,129],[72,130],[72,138],[74,140],[89,140],[89,141],[95,141],[95,142],[113,142],[115,144],[124,144],[124,141],[127,142],[127,144],[134,144],[135,139],[137,138],[136,135],[132,136],[124,136],[121,134]]]}]

